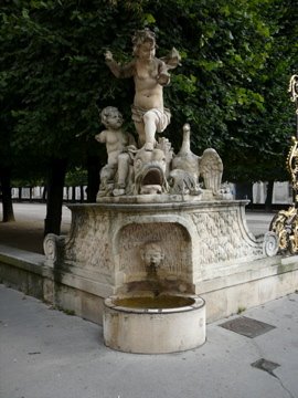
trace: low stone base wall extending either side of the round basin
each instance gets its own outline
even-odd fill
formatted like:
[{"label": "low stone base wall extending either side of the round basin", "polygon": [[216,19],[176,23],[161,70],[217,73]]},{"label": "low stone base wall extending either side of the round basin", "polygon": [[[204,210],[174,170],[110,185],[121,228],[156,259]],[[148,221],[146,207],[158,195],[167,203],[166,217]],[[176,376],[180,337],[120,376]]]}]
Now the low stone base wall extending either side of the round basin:
[{"label": "low stone base wall extending either side of the round basin", "polygon": [[[68,271],[43,265],[44,255],[0,247],[0,283],[44,300],[86,320],[103,324],[104,300],[115,291]],[[292,293],[298,286],[298,256],[260,259],[205,274],[195,295],[206,302],[211,323]]]}]

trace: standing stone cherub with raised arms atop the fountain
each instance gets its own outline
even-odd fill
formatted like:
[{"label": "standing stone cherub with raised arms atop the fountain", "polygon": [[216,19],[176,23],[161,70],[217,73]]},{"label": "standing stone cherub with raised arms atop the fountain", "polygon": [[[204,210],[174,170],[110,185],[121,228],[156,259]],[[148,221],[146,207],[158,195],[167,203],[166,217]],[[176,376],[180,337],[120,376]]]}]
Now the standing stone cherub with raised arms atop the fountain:
[{"label": "standing stone cherub with raised arms atop the fountain", "polygon": [[170,82],[169,70],[179,64],[180,55],[172,49],[169,56],[156,57],[156,36],[149,29],[137,31],[132,38],[135,59],[119,65],[110,51],[106,63],[116,77],[134,77],[135,100],[131,107],[139,145],[153,150],[156,133],[162,133],[170,123],[171,113],[163,106],[163,86]]}]

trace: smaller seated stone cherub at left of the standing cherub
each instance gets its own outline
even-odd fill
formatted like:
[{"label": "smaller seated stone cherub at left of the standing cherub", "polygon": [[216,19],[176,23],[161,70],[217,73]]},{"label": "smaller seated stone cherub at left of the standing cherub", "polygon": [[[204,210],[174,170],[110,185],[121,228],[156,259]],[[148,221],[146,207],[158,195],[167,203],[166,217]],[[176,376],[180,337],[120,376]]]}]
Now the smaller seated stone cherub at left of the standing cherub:
[{"label": "smaller seated stone cherub at left of the standing cherub", "polygon": [[132,153],[137,150],[136,142],[131,134],[123,130],[123,115],[116,107],[105,107],[100,113],[100,117],[106,129],[97,134],[95,139],[98,143],[106,144],[108,160],[100,171],[99,196],[109,195],[109,187],[111,187],[114,196],[125,195]]}]

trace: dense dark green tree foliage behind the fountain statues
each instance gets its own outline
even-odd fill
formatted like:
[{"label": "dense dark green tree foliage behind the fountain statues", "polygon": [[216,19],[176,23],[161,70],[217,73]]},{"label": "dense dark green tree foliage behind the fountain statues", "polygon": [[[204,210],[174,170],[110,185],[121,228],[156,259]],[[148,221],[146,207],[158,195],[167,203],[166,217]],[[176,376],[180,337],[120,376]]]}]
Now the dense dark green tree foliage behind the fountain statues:
[{"label": "dense dark green tree foliage behind the fountain statues", "polygon": [[[192,149],[214,147],[230,180],[285,179],[285,153],[295,132],[287,95],[297,73],[294,0],[14,0],[0,11],[1,164],[45,172],[52,157],[82,167],[104,148],[98,108],[119,107],[127,127],[131,81],[116,80],[109,49],[131,59],[131,35],[156,31],[158,55],[175,46],[182,66],[164,88],[172,112],[167,135],[175,149],[182,126]],[[36,167],[39,165],[39,167]]]}]

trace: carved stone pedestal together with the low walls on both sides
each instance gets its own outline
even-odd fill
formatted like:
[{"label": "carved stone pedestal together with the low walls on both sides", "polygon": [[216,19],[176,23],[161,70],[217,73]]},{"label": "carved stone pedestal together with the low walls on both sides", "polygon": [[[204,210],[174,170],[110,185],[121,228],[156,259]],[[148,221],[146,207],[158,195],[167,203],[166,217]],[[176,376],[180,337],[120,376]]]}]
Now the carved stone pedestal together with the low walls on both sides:
[{"label": "carved stone pedestal together with the low walls on both sides", "polygon": [[206,322],[297,290],[298,256],[274,255],[274,235],[256,239],[247,230],[246,201],[168,200],[143,196],[70,206],[71,233],[47,235],[45,256],[0,248],[1,280],[102,324],[105,298],[143,287],[139,248],[158,240],[161,287],[200,295]]}]

